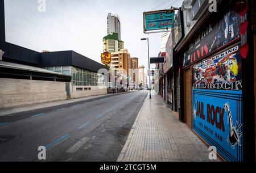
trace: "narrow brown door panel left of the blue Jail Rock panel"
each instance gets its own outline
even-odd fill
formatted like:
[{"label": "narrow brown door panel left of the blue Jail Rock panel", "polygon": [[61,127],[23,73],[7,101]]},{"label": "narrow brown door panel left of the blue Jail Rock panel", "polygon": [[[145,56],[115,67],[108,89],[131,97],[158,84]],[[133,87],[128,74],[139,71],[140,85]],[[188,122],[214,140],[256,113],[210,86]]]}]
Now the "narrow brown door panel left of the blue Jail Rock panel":
[{"label": "narrow brown door panel left of the blue Jail Rock panel", "polygon": [[184,98],[185,98],[185,123],[188,124],[189,127],[192,127],[192,74],[191,69],[185,70],[184,75]]}]

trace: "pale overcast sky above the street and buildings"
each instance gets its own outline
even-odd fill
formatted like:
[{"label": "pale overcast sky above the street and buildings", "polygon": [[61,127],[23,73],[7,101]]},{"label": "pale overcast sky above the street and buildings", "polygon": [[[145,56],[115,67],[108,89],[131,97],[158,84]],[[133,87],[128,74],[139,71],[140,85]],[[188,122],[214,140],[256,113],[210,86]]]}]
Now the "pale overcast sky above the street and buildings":
[{"label": "pale overcast sky above the street and buildings", "polygon": [[[38,12],[38,0],[5,0],[6,41],[38,52],[74,50],[101,63],[106,17],[112,12],[121,20],[125,48],[147,68],[147,43],[141,41],[147,37],[142,14],[162,3],[155,10],[180,7],[182,0],[46,0],[46,12]],[[150,56],[156,57],[160,34],[150,34],[149,38]]]}]

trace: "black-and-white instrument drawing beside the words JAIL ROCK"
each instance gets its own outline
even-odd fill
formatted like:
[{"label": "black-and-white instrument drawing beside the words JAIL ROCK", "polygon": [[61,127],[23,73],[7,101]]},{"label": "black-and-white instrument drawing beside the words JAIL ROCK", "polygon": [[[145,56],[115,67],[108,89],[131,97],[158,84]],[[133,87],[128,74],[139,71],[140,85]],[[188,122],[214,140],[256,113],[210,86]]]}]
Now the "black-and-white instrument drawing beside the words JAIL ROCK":
[{"label": "black-and-white instrument drawing beside the words JAIL ROCK", "polygon": [[238,121],[236,126],[233,126],[232,120],[232,112],[230,111],[229,103],[224,105],[225,111],[228,112],[228,124],[229,124],[229,136],[227,138],[228,143],[230,143],[232,149],[235,148],[236,145],[241,146],[241,137],[243,136],[241,128],[242,124],[238,126]]}]

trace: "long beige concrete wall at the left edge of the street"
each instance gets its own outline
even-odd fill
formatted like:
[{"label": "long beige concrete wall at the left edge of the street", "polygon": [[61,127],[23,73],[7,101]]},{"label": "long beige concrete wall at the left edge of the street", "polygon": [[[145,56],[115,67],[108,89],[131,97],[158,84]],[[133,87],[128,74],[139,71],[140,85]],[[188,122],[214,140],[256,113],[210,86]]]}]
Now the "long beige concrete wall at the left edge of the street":
[{"label": "long beige concrete wall at the left edge of the street", "polygon": [[0,78],[0,108],[67,99],[65,82]]}]

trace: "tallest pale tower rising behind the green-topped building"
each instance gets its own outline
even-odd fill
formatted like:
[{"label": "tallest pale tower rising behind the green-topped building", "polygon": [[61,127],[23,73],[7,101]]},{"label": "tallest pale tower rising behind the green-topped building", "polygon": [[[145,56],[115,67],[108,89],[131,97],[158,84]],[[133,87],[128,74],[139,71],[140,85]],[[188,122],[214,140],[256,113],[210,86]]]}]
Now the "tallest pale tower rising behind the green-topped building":
[{"label": "tallest pale tower rising behind the green-topped building", "polygon": [[117,14],[108,14],[108,35],[115,32],[118,33],[118,40],[121,40],[121,23]]}]

